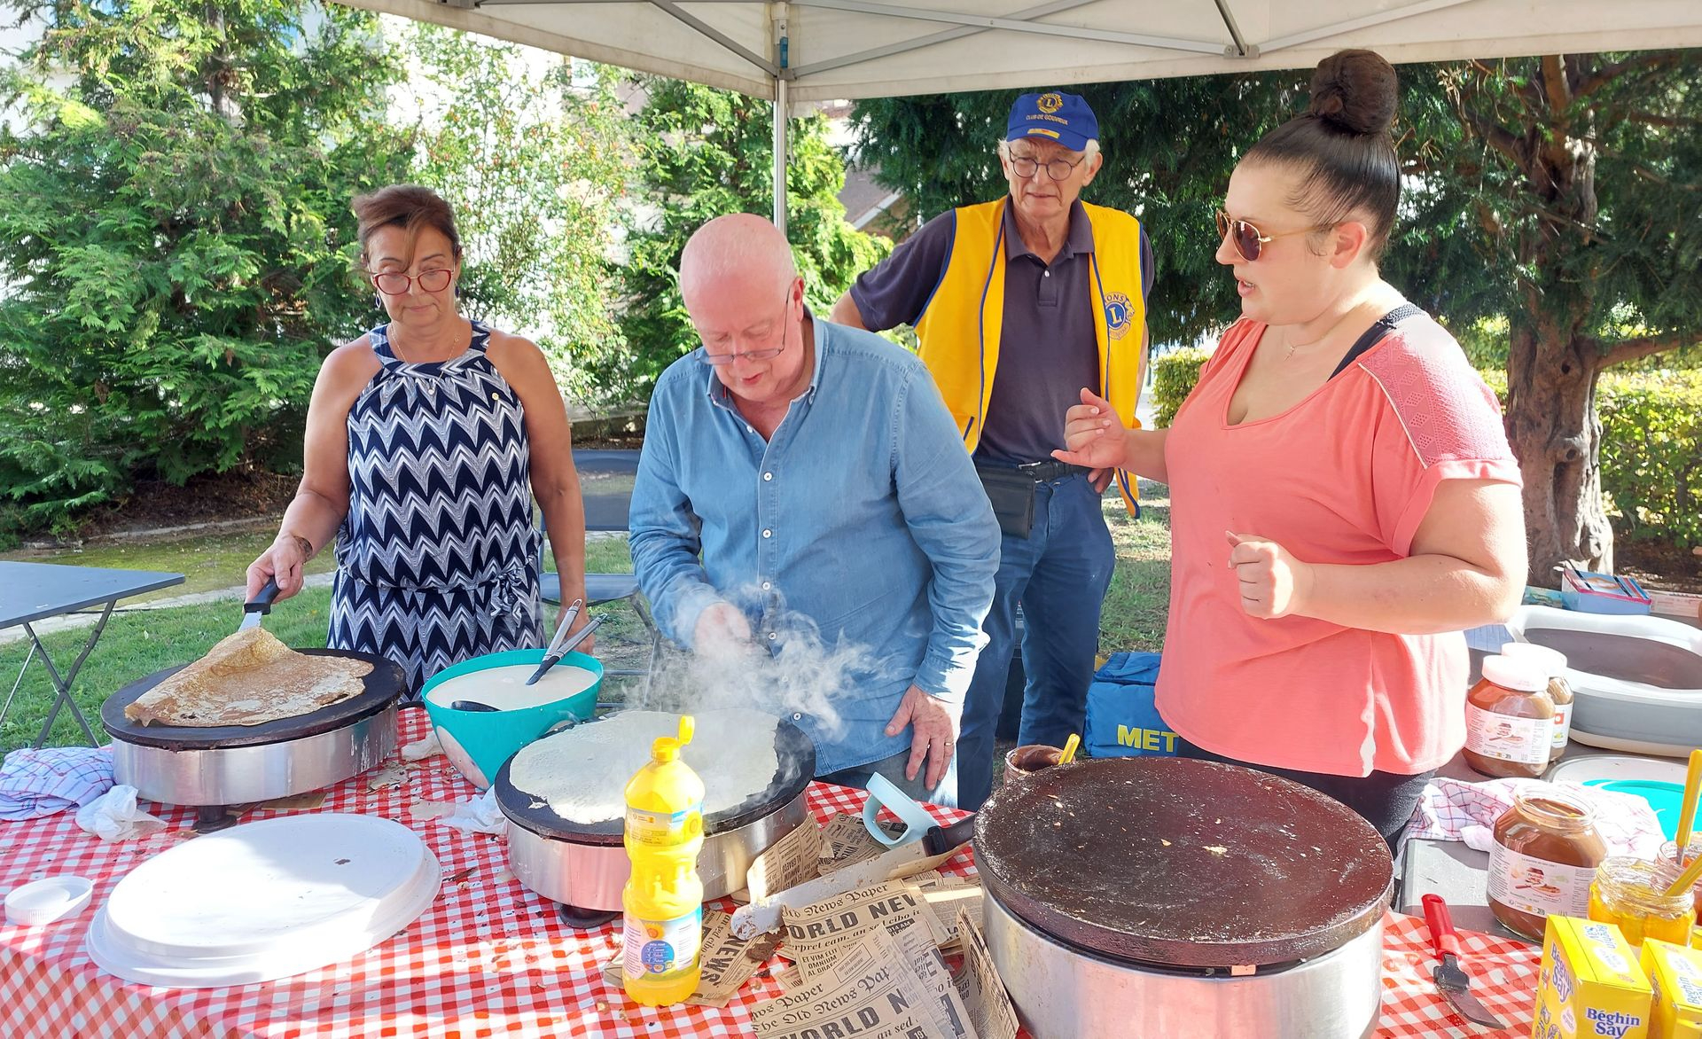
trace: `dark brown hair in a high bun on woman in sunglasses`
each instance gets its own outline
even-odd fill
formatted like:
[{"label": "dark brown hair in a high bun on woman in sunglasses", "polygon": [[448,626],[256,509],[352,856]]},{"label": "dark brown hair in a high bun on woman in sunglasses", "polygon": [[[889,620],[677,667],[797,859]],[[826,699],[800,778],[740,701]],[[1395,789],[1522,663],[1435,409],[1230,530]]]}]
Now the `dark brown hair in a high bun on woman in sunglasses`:
[{"label": "dark brown hair in a high bun on woman in sunglasses", "polygon": [[1372,261],[1389,245],[1401,167],[1389,128],[1399,82],[1374,51],[1338,51],[1312,72],[1312,104],[1248,150],[1244,162],[1282,164],[1300,174],[1288,203],[1333,227],[1365,216]]}]

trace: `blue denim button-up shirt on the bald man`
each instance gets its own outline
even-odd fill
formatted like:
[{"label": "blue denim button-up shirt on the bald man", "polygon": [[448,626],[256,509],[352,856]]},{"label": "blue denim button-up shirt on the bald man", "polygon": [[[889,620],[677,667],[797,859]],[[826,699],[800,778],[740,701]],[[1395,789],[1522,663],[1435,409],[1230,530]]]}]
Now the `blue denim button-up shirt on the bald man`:
[{"label": "blue denim button-up shirt on the bald man", "polygon": [[689,647],[732,601],[778,652],[790,618],[866,668],[834,703],[795,714],[817,775],[888,758],[905,690],[962,703],[985,637],[999,525],[928,370],[873,332],[814,319],[815,370],[764,441],[698,351],[650,397],[631,499],[633,569],[657,623]]}]

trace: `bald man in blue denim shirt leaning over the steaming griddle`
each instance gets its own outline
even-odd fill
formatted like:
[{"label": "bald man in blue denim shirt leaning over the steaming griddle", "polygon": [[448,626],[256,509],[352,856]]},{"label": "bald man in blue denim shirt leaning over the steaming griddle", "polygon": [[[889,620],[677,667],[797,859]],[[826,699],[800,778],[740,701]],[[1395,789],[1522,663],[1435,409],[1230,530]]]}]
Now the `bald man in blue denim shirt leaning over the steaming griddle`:
[{"label": "bald man in blue denim shirt leaning over the steaming griddle", "polygon": [[759,216],[703,225],[679,286],[703,346],[650,397],[630,520],[657,622],[698,652],[774,651],[785,615],[866,647],[837,724],[793,715],[817,775],[953,804],[999,526],[940,392],[904,349],[812,317]]}]

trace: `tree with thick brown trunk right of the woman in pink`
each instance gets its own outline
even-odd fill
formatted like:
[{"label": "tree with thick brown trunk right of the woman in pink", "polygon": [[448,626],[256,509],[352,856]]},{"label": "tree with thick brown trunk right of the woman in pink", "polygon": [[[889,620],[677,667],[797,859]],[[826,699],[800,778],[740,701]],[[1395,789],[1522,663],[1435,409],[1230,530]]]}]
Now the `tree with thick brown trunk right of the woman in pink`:
[{"label": "tree with thick brown trunk right of the woman in pink", "polygon": [[1430,266],[1474,286],[1457,313],[1508,317],[1532,574],[1610,569],[1596,380],[1702,339],[1702,51],[1471,61],[1435,83],[1419,172],[1452,220]]}]

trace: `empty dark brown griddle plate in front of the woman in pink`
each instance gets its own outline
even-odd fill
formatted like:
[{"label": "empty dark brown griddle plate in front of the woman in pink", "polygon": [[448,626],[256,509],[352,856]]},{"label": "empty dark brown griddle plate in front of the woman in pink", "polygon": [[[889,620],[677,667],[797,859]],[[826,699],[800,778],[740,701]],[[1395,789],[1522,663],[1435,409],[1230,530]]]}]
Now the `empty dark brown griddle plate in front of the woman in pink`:
[{"label": "empty dark brown griddle plate in front of the woman in pink", "polygon": [[1006,784],[975,821],[1004,908],[1142,964],[1271,966],[1365,933],[1394,889],[1382,836],[1285,778],[1186,758],[1105,758]]}]

